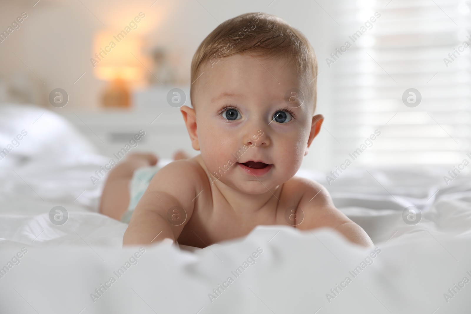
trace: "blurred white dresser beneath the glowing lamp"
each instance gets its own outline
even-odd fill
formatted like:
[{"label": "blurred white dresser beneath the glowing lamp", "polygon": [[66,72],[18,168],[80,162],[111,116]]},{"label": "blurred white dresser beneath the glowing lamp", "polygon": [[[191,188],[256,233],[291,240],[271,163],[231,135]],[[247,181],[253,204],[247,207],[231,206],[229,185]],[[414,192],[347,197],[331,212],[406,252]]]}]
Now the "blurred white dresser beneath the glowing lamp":
[{"label": "blurred white dresser beneath the glowing lamp", "polygon": [[[167,103],[167,93],[174,88],[151,88],[133,94],[133,107],[129,110],[100,109],[96,112],[62,112],[81,133],[93,142],[99,151],[109,157],[129,143],[139,130],[146,135],[132,147],[132,152],[154,152],[160,158],[169,159],[176,150],[190,155],[198,154],[191,141],[179,108]],[[189,87],[179,87],[190,106]],[[129,147],[129,146],[128,146]]]}]

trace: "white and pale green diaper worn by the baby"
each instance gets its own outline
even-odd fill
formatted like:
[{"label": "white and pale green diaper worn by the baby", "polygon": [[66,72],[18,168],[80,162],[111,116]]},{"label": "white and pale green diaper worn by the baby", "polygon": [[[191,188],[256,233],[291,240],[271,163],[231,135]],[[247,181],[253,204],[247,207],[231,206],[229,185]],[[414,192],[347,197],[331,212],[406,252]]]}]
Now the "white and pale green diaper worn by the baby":
[{"label": "white and pale green diaper worn by the baby", "polygon": [[149,185],[152,178],[160,169],[160,167],[152,166],[134,170],[134,174],[132,175],[132,179],[129,184],[129,206],[128,210],[121,217],[122,222],[129,224],[136,205],[138,204],[142,195],[144,195],[144,192],[146,192],[147,186]]}]

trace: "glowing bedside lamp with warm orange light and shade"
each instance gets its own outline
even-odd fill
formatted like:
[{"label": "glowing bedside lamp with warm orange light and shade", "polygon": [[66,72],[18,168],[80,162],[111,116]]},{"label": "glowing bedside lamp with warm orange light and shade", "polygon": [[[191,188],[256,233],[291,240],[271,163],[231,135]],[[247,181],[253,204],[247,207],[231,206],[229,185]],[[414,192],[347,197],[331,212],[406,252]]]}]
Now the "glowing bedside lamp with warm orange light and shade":
[{"label": "glowing bedside lamp with warm orange light and shade", "polygon": [[130,86],[143,82],[144,60],[140,54],[141,40],[136,34],[125,31],[97,32],[94,40],[94,55],[90,59],[95,76],[108,81],[102,95],[104,107],[129,108]]}]

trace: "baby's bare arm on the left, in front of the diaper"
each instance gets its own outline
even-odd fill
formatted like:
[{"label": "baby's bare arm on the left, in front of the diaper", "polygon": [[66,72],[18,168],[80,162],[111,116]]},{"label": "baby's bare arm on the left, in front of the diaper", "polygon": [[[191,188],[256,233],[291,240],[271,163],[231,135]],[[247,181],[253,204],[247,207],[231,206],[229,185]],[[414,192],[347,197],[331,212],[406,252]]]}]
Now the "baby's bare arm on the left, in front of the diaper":
[{"label": "baby's bare arm on the left, in front of the diaper", "polygon": [[134,209],[123,245],[179,238],[193,213],[195,202],[192,200],[202,182],[197,167],[194,161],[173,161],[155,174]]}]

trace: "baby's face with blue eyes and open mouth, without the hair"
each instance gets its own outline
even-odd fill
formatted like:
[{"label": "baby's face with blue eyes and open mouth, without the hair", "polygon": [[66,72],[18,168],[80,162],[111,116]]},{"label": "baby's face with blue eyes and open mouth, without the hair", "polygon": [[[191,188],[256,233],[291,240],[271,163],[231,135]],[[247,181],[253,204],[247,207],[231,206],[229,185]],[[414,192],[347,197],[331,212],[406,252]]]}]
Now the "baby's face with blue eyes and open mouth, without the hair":
[{"label": "baby's face with blue eyes and open mouth, without the hair", "polygon": [[293,66],[238,54],[200,72],[195,111],[182,112],[212,180],[260,194],[292,178],[322,123],[320,115],[313,119],[312,99],[301,105],[296,94],[286,97],[292,89],[307,95]]}]

